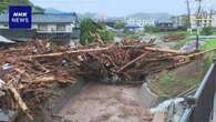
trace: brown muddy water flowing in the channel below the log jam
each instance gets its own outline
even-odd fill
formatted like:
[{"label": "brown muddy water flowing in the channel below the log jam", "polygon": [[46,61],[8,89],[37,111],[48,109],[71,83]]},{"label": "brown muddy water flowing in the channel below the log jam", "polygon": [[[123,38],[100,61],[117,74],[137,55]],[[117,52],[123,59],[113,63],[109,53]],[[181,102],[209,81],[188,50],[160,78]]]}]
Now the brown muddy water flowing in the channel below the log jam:
[{"label": "brown muddy water flowing in the channel below the log jam", "polygon": [[142,87],[90,83],[59,114],[72,122],[142,122],[148,101],[142,91]]}]

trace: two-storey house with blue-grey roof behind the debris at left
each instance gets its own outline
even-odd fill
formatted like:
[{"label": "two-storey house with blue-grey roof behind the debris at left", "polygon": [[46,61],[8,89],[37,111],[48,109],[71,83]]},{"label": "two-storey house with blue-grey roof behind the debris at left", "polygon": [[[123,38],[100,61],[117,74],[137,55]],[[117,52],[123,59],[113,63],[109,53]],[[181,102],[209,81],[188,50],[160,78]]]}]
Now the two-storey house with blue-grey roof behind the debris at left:
[{"label": "two-storey house with blue-grey roof behind the debris at left", "polygon": [[8,14],[0,14],[0,34],[11,40],[79,38],[79,20],[75,13],[33,14],[31,29],[9,29],[8,21]]}]

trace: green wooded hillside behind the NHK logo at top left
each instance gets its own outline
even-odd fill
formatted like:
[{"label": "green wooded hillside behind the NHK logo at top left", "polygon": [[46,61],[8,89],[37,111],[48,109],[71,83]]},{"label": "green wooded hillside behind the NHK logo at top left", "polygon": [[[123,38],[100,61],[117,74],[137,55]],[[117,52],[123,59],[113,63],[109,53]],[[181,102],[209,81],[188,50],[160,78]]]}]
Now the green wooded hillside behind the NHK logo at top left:
[{"label": "green wooded hillside behind the NHK logo at top left", "polygon": [[0,13],[8,11],[9,6],[31,6],[33,12],[43,12],[44,9],[34,6],[30,0],[0,0]]}]

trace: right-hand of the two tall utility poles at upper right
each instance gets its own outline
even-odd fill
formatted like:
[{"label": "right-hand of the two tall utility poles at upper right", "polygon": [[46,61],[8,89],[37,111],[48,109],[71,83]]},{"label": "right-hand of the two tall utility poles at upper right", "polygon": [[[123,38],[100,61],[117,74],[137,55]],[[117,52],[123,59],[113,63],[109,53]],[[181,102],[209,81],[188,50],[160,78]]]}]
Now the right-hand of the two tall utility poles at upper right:
[{"label": "right-hand of the two tall utility poles at upper right", "polygon": [[198,50],[198,44],[199,44],[199,33],[200,33],[200,20],[202,20],[202,0],[195,0],[198,2],[198,9],[197,9],[197,14],[196,14],[196,50]]}]

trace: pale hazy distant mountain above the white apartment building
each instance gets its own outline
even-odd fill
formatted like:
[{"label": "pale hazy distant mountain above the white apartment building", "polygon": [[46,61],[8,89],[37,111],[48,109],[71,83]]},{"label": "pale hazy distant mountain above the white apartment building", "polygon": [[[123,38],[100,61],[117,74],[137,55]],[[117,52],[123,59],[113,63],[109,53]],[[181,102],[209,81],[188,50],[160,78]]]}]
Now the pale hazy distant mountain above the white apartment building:
[{"label": "pale hazy distant mountain above the white apartment building", "polygon": [[168,20],[171,19],[171,14],[168,13],[144,13],[144,12],[138,12],[134,14],[130,14],[126,18],[141,18],[141,19],[155,19],[155,20]]}]

